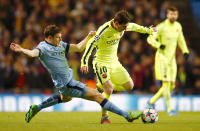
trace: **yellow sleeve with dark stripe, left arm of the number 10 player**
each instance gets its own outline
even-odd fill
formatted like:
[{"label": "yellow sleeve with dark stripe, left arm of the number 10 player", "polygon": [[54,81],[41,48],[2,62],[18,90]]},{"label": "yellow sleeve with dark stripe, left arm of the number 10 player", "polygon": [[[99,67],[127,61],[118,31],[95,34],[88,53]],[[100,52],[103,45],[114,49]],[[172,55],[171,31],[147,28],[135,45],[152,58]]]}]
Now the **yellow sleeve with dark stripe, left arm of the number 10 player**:
[{"label": "yellow sleeve with dark stripe, left arm of the number 10 player", "polygon": [[108,27],[109,27],[109,25],[105,25],[105,26],[103,25],[103,26],[99,27],[96,35],[93,36],[92,38],[90,38],[90,40],[87,42],[85,52],[81,58],[81,67],[88,66],[88,59],[89,59],[93,49],[96,46],[98,46],[99,41],[101,41],[103,39],[103,32]]}]

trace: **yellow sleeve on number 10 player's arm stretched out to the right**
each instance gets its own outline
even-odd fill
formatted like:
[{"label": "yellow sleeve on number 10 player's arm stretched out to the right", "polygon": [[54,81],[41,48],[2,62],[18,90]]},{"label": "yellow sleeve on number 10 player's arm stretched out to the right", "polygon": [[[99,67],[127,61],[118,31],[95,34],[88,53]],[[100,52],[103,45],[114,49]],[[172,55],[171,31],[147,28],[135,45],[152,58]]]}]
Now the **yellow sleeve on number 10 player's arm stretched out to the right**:
[{"label": "yellow sleeve on number 10 player's arm stretched out to the right", "polygon": [[147,34],[153,33],[152,28],[144,27],[144,26],[138,25],[136,23],[129,23],[126,28],[126,31],[135,31],[135,32],[147,33]]}]

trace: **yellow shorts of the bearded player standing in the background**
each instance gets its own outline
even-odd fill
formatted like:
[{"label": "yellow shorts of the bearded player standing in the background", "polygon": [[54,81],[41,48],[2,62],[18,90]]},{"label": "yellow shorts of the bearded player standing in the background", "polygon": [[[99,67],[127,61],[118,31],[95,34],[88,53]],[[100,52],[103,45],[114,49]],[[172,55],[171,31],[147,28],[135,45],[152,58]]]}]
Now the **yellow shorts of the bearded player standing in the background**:
[{"label": "yellow shorts of the bearded player standing in the background", "polygon": [[174,58],[171,62],[166,63],[166,60],[160,59],[159,55],[155,59],[155,78],[162,81],[176,81],[177,64]]}]

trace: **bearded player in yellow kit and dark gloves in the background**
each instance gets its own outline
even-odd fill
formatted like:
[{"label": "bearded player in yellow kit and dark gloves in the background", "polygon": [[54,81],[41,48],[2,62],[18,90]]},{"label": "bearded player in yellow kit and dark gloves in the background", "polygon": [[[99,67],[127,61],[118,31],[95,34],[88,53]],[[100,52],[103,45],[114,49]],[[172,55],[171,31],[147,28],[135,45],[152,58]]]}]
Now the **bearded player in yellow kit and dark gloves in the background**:
[{"label": "bearded player in yellow kit and dark gloves in the background", "polygon": [[176,21],[178,18],[176,7],[169,7],[166,16],[166,20],[156,26],[157,32],[147,38],[148,43],[157,48],[155,78],[162,82],[161,88],[148,101],[147,105],[148,108],[155,108],[154,103],[163,96],[167,104],[168,114],[178,115],[175,110],[172,110],[170,103],[170,91],[175,88],[177,75],[175,56],[177,43],[186,59],[189,56],[189,50],[183,36],[181,24]]}]

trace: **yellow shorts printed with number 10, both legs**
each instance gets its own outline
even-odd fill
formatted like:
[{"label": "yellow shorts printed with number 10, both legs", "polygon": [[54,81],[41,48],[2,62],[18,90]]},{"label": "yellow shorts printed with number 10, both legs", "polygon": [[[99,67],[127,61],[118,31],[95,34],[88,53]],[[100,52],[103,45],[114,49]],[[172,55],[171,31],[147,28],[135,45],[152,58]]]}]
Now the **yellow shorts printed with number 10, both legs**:
[{"label": "yellow shorts printed with number 10, both legs", "polygon": [[97,86],[100,88],[108,80],[111,80],[112,84],[115,85],[123,85],[131,80],[129,73],[119,61],[112,65],[93,61],[93,69],[97,77]]}]

